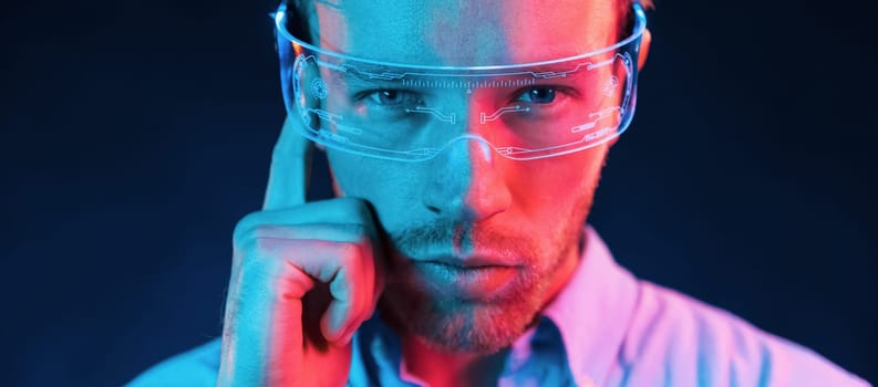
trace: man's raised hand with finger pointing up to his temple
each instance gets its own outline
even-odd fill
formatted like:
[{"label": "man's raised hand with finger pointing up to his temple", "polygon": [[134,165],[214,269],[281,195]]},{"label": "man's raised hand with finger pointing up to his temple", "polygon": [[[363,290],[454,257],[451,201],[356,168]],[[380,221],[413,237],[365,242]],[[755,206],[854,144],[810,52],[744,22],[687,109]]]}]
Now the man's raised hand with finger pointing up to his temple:
[{"label": "man's raised hand with finger pointing up to his temple", "polygon": [[297,124],[283,124],[262,211],[235,228],[217,386],[343,386],[383,287],[366,203],[306,203],[313,145]]}]

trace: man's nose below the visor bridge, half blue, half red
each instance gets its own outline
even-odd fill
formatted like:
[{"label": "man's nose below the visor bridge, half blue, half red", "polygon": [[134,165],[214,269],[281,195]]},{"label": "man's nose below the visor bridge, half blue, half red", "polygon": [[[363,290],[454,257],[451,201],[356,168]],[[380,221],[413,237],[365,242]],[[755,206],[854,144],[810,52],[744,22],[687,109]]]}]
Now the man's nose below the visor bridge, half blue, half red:
[{"label": "man's nose below the visor bridge, half blue, half red", "polygon": [[484,138],[461,136],[431,161],[423,203],[436,215],[466,222],[500,213],[512,203],[503,172],[508,163]]}]

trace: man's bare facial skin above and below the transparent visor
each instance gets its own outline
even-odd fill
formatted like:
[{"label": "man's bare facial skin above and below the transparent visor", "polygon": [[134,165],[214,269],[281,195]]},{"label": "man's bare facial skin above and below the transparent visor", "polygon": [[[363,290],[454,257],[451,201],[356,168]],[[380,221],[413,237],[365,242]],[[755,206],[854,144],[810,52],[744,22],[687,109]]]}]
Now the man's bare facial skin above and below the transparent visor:
[{"label": "man's bare facial skin above and below the transparent visor", "polygon": [[[571,56],[613,44],[619,18],[612,0],[314,7],[323,49],[425,65]],[[569,279],[607,150],[520,161],[459,140],[424,163],[333,149],[328,157],[338,194],[371,202],[389,236],[385,320],[445,352],[490,353],[518,337]]]}]

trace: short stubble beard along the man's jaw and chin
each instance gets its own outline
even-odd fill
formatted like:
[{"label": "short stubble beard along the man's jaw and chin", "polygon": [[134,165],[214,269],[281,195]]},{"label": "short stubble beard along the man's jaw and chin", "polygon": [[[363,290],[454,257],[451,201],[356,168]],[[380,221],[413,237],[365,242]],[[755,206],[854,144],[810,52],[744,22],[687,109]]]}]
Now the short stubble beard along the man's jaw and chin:
[{"label": "short stubble beard along the man's jaw and chin", "polygon": [[[569,262],[571,254],[578,253],[591,197],[587,195],[585,202],[578,207],[580,213],[574,215],[572,219],[565,219],[568,220],[566,224],[559,227],[546,239],[548,242],[540,247],[534,245],[538,242],[533,240],[499,234],[478,239],[478,243],[514,249],[527,262],[519,268],[502,294],[496,296],[466,300],[431,290],[412,280],[415,276],[412,275],[411,265],[392,264],[379,301],[382,318],[399,335],[417,337],[442,353],[488,355],[509,346],[536,323],[535,318],[548,302],[550,295],[547,293],[557,280],[559,269]],[[444,231],[434,229],[431,233],[397,236],[393,238],[392,244],[417,244],[419,239],[442,236]]]}]

